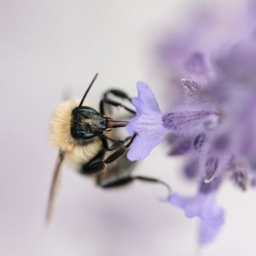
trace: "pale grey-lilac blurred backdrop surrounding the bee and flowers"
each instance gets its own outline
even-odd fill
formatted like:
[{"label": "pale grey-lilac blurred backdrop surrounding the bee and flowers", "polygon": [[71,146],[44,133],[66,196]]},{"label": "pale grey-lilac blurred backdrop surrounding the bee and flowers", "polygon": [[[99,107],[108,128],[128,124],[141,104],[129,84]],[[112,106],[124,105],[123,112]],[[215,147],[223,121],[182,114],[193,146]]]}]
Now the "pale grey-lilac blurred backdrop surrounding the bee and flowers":
[{"label": "pale grey-lilac blurred backdrop surrounding the bee and flowers", "polygon": [[[227,183],[218,197],[226,223],[217,239],[199,247],[197,219],[161,203],[166,190],[133,183],[104,191],[63,166],[54,218],[44,224],[57,150],[49,143],[49,119],[63,95],[99,102],[109,87],[137,95],[150,84],[166,110],[166,80],[155,47],[165,32],[211,4],[222,22],[243,13],[244,1],[0,1],[0,255],[255,255],[255,191]],[[230,18],[231,17],[231,18]],[[237,17],[237,19],[236,19]],[[213,31],[209,31],[211,35]],[[183,193],[195,187],[180,173],[181,158],[154,149],[136,172],[160,177]]]}]

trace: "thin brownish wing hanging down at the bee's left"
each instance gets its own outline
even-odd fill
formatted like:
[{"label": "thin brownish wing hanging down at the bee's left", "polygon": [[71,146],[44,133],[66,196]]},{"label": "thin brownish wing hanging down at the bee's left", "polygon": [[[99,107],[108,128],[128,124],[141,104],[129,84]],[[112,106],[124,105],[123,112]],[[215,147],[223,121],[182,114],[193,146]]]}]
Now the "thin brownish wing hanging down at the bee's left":
[{"label": "thin brownish wing hanging down at the bee's left", "polygon": [[47,210],[46,210],[46,216],[45,216],[46,223],[49,223],[50,218],[52,216],[54,202],[55,202],[55,195],[57,191],[57,185],[60,179],[61,163],[63,159],[64,159],[64,153],[60,151],[55,164],[55,171],[54,171],[53,179],[52,179],[50,190],[49,190],[49,199],[47,203]]}]

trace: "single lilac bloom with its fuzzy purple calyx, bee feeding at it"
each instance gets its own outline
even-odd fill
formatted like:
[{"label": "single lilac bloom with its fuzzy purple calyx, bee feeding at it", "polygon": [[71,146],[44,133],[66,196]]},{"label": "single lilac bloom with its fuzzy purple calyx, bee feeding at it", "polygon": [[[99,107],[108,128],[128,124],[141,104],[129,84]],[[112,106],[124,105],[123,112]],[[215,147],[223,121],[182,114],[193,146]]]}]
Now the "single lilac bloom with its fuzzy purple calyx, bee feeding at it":
[{"label": "single lilac bloom with its fuzzy purple calyx, bee feeding at it", "polygon": [[[189,82],[185,84],[188,90],[186,96],[192,99],[196,96],[198,86],[192,82],[190,85]],[[138,97],[132,100],[137,115],[126,126],[131,135],[137,135],[128,152],[129,160],[143,160],[163,141],[166,133],[193,137],[211,130],[218,122],[218,110],[213,109],[211,105],[190,101],[188,104],[173,108],[172,112],[161,113],[147,84],[137,83],[137,91]],[[201,143],[202,141],[203,139]]]}]

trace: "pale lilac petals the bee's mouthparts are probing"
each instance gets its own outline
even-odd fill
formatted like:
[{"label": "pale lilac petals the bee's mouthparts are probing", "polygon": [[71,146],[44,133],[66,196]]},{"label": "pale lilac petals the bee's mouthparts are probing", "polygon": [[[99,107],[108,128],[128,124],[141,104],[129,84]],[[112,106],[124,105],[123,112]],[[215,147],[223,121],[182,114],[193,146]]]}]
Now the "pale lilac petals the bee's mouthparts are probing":
[{"label": "pale lilac petals the bee's mouthparts are probing", "polygon": [[131,135],[137,134],[127,154],[129,160],[146,158],[163,141],[167,131],[162,125],[162,113],[148,84],[138,82],[137,91],[138,97],[132,99],[137,116],[126,126]]}]

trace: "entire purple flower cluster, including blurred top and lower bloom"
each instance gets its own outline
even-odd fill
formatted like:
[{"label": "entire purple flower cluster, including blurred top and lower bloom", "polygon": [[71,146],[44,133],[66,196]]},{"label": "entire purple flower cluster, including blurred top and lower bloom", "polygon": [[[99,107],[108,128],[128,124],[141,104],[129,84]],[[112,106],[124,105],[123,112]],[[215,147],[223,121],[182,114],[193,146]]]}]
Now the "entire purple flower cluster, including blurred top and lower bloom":
[{"label": "entire purple flower cluster, including blurred top and lower bloom", "polygon": [[251,3],[253,15],[237,15],[225,27],[236,26],[236,32],[226,37],[220,36],[224,22],[217,19],[218,10],[203,11],[183,34],[167,34],[158,45],[158,67],[167,84],[178,84],[176,90],[172,86],[176,107],[161,113],[148,85],[138,84],[137,117],[127,127],[137,134],[130,160],[143,160],[166,134],[169,155],[184,155],[184,173],[199,182],[199,192],[173,194],[169,201],[187,217],[201,219],[202,244],[224,223],[224,211],[215,201],[219,184],[229,178],[241,190],[256,186],[256,1]]}]

